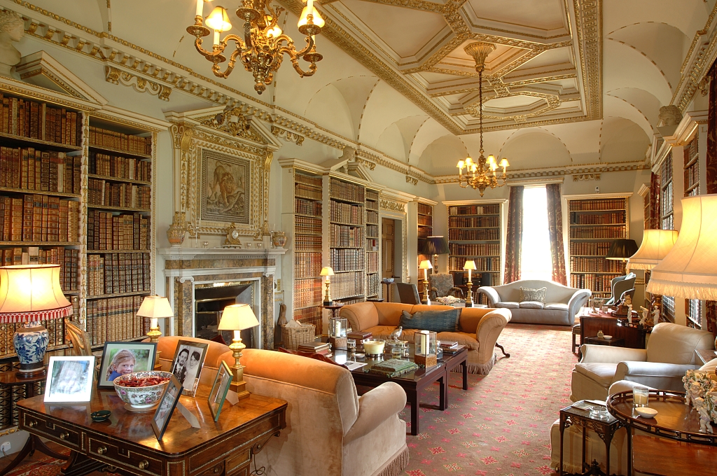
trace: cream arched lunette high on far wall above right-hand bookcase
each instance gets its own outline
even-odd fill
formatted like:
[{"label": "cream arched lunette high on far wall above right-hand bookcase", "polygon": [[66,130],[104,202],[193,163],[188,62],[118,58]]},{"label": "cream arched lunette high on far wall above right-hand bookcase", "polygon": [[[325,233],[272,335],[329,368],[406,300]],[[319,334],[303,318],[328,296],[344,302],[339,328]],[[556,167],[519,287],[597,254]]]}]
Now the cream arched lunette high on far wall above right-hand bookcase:
[{"label": "cream arched lunette high on far wall above right-hand bookcase", "polygon": [[602,125],[603,162],[642,161],[650,140],[639,125],[625,118],[607,117]]}]

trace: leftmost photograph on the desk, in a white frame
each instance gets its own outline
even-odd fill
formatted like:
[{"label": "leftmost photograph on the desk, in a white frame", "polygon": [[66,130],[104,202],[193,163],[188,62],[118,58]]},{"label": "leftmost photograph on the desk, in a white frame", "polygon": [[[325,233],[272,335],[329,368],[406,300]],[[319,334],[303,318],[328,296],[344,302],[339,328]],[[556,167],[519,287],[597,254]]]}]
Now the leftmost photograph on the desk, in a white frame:
[{"label": "leftmost photograph on the desk, in a white frame", "polygon": [[94,356],[51,356],[44,401],[90,401],[94,371]]}]

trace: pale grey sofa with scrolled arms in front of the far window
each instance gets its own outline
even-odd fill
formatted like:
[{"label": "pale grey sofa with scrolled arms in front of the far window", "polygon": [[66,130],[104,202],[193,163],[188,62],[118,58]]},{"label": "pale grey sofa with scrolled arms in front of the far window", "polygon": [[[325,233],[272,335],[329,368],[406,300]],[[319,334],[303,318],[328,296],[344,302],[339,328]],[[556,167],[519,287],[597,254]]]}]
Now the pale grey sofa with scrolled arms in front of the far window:
[{"label": "pale grey sofa with scrolled arms in front of the far window", "polygon": [[[546,287],[545,304],[542,308],[537,308],[538,305],[533,301],[521,303],[521,287]],[[573,325],[575,315],[592,296],[589,289],[567,287],[543,280],[518,280],[502,286],[481,286],[478,292],[488,297],[490,308],[510,309],[513,313],[511,322],[526,324]]]}]

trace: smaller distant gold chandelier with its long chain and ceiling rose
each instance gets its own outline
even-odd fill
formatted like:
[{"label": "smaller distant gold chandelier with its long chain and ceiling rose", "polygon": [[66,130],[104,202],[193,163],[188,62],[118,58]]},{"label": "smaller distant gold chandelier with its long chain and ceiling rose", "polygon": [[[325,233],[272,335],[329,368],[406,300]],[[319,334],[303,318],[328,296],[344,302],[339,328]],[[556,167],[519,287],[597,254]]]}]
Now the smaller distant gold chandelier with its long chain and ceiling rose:
[{"label": "smaller distant gold chandelier with its long chain and ceiling rose", "polygon": [[[503,158],[500,161],[500,167],[503,167],[503,175],[500,176],[502,184],[498,184],[498,176],[495,175],[496,169],[498,169],[498,163],[495,162],[495,157],[490,155],[488,158],[483,156],[483,70],[485,70],[485,58],[488,57],[490,52],[495,50],[495,44],[485,42],[475,42],[468,44],[465,47],[465,52],[475,59],[475,70],[478,71],[478,117],[480,118],[480,157],[478,162],[474,162],[473,158],[466,158],[465,161],[458,161],[458,184],[464,189],[468,186],[472,186],[473,189],[480,191],[480,196],[483,196],[485,189],[490,187],[502,187],[505,185],[505,181],[508,176],[505,174],[505,168],[510,166],[507,158]],[[466,169],[465,176],[463,175],[463,168]],[[464,185],[465,181],[465,185]]]}]

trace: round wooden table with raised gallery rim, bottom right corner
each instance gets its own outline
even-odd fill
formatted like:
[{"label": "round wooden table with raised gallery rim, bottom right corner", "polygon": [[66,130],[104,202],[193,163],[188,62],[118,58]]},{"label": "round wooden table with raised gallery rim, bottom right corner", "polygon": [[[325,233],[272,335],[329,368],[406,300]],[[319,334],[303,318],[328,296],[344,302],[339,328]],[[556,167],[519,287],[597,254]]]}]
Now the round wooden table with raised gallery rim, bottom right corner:
[{"label": "round wooden table with raised gallery rim, bottom right corner", "polygon": [[[699,414],[685,405],[685,393],[650,390],[655,418],[632,410],[632,391],[613,394],[607,409],[627,428],[627,474],[709,475],[717,465],[717,434],[701,433]],[[643,434],[635,434],[639,429]],[[644,433],[647,433],[645,435]],[[635,451],[635,446],[639,447]]]}]

